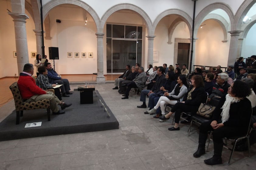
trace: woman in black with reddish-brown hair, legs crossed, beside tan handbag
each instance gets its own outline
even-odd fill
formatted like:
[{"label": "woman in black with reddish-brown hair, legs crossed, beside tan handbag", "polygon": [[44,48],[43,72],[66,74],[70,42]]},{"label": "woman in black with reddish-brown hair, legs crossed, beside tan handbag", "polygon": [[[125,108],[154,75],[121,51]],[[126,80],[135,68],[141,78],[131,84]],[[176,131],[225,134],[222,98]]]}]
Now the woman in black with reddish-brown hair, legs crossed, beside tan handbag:
[{"label": "woman in black with reddish-brown hair, legs crossed, beside tan handbag", "polygon": [[189,88],[189,91],[184,97],[183,101],[176,103],[171,109],[171,112],[169,112],[167,115],[159,117],[161,120],[167,120],[175,112],[175,125],[172,128],[168,128],[170,131],[180,130],[179,121],[182,112],[192,112],[195,114],[199,108],[199,105],[205,100],[204,82],[202,76],[194,75],[191,80],[191,85],[192,86]]}]

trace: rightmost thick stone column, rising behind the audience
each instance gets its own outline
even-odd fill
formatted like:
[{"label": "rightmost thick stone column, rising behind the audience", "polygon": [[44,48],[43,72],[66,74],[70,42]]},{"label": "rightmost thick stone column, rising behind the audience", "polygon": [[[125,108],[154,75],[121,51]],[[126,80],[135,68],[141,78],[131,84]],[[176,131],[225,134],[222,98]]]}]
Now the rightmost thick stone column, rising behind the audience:
[{"label": "rightmost thick stone column, rising behind the audience", "polygon": [[227,65],[234,65],[236,62],[236,58],[238,57],[238,38],[239,34],[243,31],[229,31],[231,34],[230,38],[230,45],[229,45],[229,53],[228,53],[228,60],[227,60]]}]

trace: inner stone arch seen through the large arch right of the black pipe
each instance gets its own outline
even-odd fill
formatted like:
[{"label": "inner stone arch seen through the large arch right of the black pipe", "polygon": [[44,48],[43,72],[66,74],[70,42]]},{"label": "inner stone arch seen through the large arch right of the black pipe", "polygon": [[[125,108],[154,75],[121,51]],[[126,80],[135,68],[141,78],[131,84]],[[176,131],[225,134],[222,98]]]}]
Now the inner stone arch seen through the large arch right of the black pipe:
[{"label": "inner stone arch seen through the large arch right of the black pipe", "polygon": [[222,17],[221,15],[211,13],[211,14],[206,15],[206,17],[202,20],[202,22],[204,22],[208,19],[212,19],[220,24],[222,31],[223,31],[223,36],[224,36],[222,42],[227,42],[227,30],[229,27],[227,20],[224,17]]}]

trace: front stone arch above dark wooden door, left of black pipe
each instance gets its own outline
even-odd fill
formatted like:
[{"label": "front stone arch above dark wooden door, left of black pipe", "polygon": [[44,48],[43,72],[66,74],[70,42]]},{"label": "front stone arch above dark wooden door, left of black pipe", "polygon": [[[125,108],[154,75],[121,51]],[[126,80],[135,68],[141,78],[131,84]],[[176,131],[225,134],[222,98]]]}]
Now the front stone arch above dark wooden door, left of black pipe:
[{"label": "front stone arch above dark wooden door, left of black pipe", "polygon": [[[156,29],[156,27],[157,27],[158,22],[159,22],[163,17],[165,17],[166,15],[170,15],[170,14],[178,15],[179,18],[181,18],[182,21],[185,22],[185,23],[188,25],[190,37],[192,37],[192,22],[193,22],[193,21],[192,21],[192,18],[191,18],[187,13],[185,13],[185,12],[179,10],[179,9],[168,9],[168,10],[162,12],[161,14],[159,14],[159,15],[157,16],[157,18],[155,19],[155,21],[153,22],[153,30],[152,30],[152,31],[155,32],[155,29]],[[179,21],[177,20],[176,22],[179,22]],[[174,24],[173,26],[175,26],[175,27],[178,25],[178,24],[175,25],[175,22],[173,22],[173,24]],[[171,28],[171,27],[170,27],[170,28]],[[169,29],[170,29],[170,28],[169,28]]]}]

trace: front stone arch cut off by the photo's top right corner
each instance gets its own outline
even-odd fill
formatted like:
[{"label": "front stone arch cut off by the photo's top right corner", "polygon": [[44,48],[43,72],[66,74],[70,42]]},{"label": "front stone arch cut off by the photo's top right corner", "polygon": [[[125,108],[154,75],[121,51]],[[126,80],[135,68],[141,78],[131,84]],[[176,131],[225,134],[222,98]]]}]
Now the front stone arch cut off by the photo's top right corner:
[{"label": "front stone arch cut off by the photo's top right corner", "polygon": [[242,22],[250,10],[250,8],[256,3],[256,0],[245,0],[242,5],[238,8],[235,18],[234,18],[234,25],[231,25],[231,30],[240,30],[242,27]]}]

